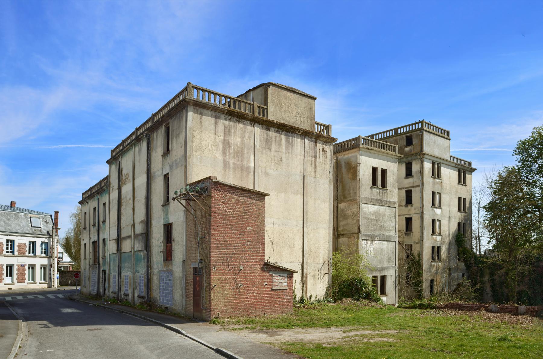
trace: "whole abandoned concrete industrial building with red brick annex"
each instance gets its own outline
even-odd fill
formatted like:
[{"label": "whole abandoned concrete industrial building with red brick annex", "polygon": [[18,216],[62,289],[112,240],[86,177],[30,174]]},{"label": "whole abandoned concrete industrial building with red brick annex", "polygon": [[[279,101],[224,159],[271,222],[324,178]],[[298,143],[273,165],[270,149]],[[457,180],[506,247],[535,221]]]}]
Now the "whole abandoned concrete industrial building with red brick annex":
[{"label": "whole abandoned concrete industrial building with red brick annex", "polygon": [[[450,156],[449,131],[421,121],[334,144],[315,100],[276,83],[237,97],[188,83],[83,193],[81,292],[207,320],[284,313],[294,291],[324,297],[332,252],[351,250],[395,305],[399,245],[424,257],[426,294],[453,285],[444,270],[456,280],[464,267],[449,255],[457,227],[443,226],[471,228],[475,169]],[[457,195],[466,205],[453,216]]]}]

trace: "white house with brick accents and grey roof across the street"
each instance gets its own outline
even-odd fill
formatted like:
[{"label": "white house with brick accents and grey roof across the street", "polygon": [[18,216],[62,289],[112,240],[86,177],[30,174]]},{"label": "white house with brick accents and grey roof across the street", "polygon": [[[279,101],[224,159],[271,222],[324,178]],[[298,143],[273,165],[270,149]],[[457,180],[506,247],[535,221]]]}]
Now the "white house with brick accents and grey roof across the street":
[{"label": "white house with brick accents and grey roof across the street", "polygon": [[58,216],[0,205],[0,291],[57,286]]}]

